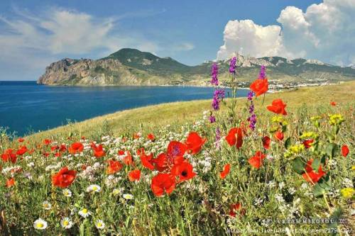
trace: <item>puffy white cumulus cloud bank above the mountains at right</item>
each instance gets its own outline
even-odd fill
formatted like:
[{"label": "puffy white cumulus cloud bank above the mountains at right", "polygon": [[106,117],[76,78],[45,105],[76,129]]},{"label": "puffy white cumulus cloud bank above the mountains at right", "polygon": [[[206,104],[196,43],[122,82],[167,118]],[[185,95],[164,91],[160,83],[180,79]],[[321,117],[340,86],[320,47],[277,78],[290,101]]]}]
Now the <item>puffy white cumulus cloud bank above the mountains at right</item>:
[{"label": "puffy white cumulus cloud bank above the mountains at right", "polygon": [[288,6],[277,19],[280,26],[253,21],[229,21],[217,58],[233,52],[254,57],[305,57],[339,65],[355,64],[355,1],[324,0],[305,12]]}]

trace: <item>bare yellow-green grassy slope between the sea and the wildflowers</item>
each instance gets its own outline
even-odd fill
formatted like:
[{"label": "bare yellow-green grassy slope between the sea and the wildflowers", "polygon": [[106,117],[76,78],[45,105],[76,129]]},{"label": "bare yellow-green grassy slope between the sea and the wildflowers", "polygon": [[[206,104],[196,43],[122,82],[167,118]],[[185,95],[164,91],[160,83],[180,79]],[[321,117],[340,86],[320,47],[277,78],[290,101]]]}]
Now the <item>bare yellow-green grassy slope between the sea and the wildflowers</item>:
[{"label": "bare yellow-green grassy slope between the sea and the wildflowers", "polygon": [[[296,91],[285,91],[278,94],[266,94],[263,106],[271,103],[273,99],[281,98],[288,104],[288,109],[297,108],[303,103],[307,106],[312,104],[329,104],[330,101],[337,103],[348,103],[355,101],[355,82],[346,82],[339,85],[321,87],[310,87],[297,89]],[[211,94],[212,96],[212,94]],[[246,99],[241,99],[241,103]],[[256,101],[256,108],[261,106],[262,97]],[[60,126],[52,130],[31,135],[31,140],[42,140],[44,137],[67,135],[70,131],[89,136],[106,126],[113,133],[118,134],[127,130],[138,130],[143,125],[145,130],[153,130],[160,125],[180,124],[196,120],[201,117],[202,111],[209,110],[210,100],[184,101],[174,103],[163,103],[155,106],[146,106],[126,111],[119,111],[105,116],[99,116],[84,120],[71,125]],[[240,107],[240,106],[239,106]]]}]

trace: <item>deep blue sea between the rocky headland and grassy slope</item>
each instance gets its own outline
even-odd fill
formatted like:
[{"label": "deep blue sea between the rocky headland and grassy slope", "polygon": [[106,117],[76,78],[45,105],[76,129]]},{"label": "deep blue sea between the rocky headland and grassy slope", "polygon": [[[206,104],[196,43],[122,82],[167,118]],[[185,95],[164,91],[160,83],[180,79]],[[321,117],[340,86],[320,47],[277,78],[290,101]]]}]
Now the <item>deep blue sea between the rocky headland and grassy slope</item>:
[{"label": "deep blue sea between the rocky headland and grassy slope", "polygon": [[[45,86],[0,81],[0,126],[17,135],[129,108],[212,99],[214,88],[193,86]],[[239,90],[246,96],[248,90]]]}]

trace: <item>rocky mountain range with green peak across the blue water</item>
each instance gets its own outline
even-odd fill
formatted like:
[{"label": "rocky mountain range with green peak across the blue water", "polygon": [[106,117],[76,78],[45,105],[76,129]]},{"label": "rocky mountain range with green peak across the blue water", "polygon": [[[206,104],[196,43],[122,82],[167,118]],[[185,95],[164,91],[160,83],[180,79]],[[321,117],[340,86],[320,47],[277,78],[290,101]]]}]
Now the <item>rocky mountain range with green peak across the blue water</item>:
[{"label": "rocky mountain range with green peak across the blue water", "polygon": [[[229,60],[218,61],[219,78],[229,85]],[[53,62],[38,79],[48,85],[209,85],[212,62],[187,66],[170,57],[124,48],[99,60],[65,58]],[[256,79],[261,65],[276,83],[339,82],[355,79],[353,67],[338,67],[318,60],[237,55],[238,82]]]}]

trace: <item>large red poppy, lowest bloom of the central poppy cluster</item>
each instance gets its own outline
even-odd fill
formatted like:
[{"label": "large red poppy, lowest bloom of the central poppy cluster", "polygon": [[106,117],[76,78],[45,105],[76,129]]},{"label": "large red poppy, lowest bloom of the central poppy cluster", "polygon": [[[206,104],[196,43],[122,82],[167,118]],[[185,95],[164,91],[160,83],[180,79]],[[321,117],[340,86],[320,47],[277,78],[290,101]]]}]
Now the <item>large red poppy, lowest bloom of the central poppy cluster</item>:
[{"label": "large red poppy, lowest bloom of the central poppy cluster", "polygon": [[152,179],[151,189],[155,196],[163,196],[164,193],[172,193],[175,189],[173,176],[165,173],[157,174]]}]

